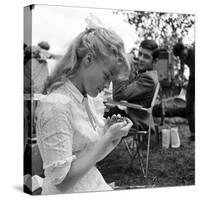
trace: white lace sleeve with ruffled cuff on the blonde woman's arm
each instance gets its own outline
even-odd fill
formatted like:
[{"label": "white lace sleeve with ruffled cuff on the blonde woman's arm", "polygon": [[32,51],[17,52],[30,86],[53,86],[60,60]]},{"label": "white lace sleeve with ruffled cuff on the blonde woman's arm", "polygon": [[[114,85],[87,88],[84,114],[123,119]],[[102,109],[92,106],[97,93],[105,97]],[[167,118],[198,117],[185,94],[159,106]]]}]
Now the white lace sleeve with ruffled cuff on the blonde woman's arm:
[{"label": "white lace sleeve with ruffled cuff on the blonde woman's arm", "polygon": [[67,175],[72,161],[73,127],[66,105],[47,107],[38,120],[38,144],[45,175],[59,184]]}]

